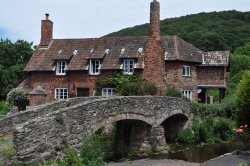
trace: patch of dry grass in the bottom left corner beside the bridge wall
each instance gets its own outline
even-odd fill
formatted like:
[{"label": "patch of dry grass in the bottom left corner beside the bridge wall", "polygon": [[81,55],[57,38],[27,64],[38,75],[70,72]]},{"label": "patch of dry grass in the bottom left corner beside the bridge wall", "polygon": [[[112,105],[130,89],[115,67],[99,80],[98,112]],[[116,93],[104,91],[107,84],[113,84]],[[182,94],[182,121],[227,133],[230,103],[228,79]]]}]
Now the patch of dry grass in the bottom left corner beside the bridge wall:
[{"label": "patch of dry grass in the bottom left corner beside the bridge wall", "polygon": [[8,133],[0,137],[0,162],[5,162],[14,157],[13,135]]}]

